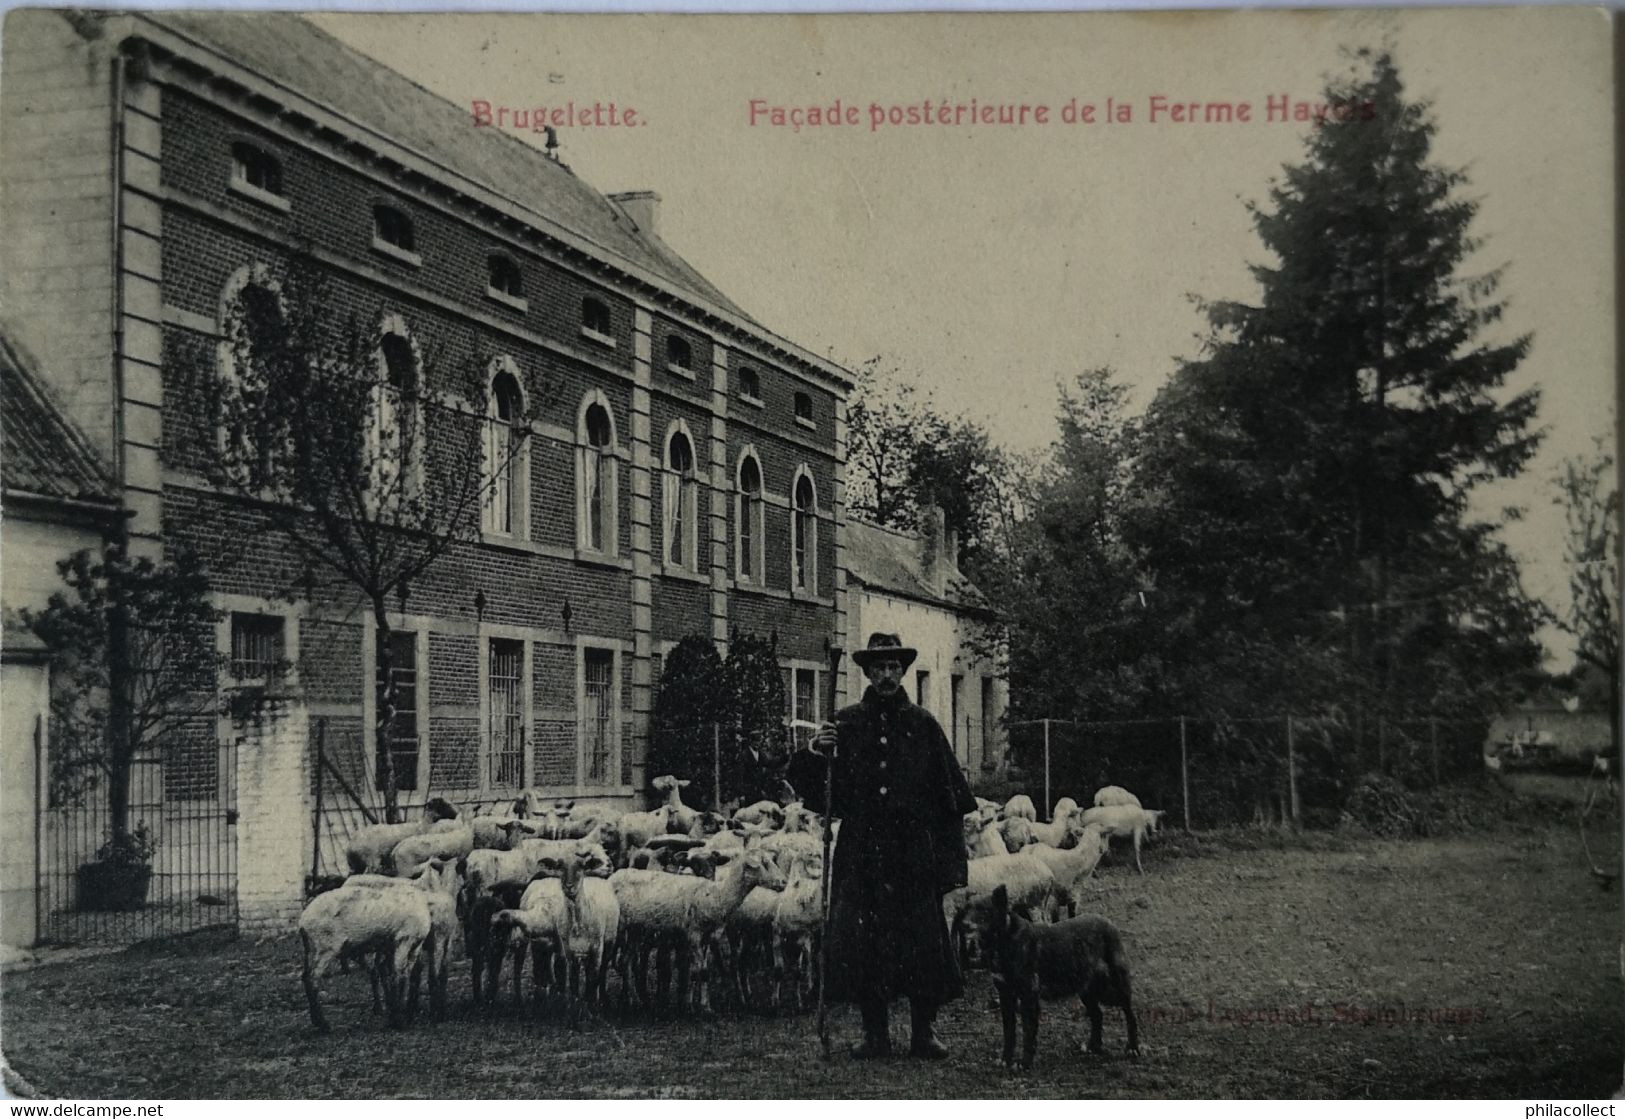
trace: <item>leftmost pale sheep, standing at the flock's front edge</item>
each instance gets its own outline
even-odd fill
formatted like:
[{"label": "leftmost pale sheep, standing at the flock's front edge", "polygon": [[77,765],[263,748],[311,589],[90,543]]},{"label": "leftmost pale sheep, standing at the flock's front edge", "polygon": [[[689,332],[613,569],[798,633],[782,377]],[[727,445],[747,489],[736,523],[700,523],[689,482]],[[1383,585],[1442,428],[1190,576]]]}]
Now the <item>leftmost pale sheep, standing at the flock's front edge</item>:
[{"label": "leftmost pale sheep, standing at the flock's front edge", "polygon": [[422,890],[379,890],[344,884],[318,893],[299,914],[304,944],[304,989],[310,1025],[327,1031],[320,981],[340,958],[370,957],[372,976],[384,986],[392,1026],[403,1022],[406,984],[418,966],[424,942],[434,934],[429,901]]}]

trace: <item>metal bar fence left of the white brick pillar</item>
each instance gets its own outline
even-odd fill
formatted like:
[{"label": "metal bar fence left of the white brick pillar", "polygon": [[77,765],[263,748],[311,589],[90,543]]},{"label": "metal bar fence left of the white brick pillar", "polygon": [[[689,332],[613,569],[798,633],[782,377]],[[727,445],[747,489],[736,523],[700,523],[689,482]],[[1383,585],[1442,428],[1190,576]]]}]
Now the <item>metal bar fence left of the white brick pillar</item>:
[{"label": "metal bar fence left of the white brick pillar", "polygon": [[133,864],[99,858],[112,838],[106,776],[41,806],[36,940],[133,944],[237,924],[237,745],[138,758],[128,827],[151,843]]}]

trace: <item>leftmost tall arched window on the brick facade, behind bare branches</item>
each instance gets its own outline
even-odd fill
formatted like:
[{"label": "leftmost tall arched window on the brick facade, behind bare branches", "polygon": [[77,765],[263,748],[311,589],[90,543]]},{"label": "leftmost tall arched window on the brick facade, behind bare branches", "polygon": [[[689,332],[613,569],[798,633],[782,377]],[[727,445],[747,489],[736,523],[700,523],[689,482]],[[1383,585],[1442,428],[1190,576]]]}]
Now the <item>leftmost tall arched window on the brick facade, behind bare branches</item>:
[{"label": "leftmost tall arched window on the brick facade, behind bare branches", "polygon": [[219,299],[219,346],[216,349],[221,377],[214,424],[219,437],[221,463],[229,476],[245,489],[276,484],[276,463],[270,455],[275,442],[275,385],[270,383],[266,357],[288,338],[286,309],[281,292],[265,265],[237,270]]}]

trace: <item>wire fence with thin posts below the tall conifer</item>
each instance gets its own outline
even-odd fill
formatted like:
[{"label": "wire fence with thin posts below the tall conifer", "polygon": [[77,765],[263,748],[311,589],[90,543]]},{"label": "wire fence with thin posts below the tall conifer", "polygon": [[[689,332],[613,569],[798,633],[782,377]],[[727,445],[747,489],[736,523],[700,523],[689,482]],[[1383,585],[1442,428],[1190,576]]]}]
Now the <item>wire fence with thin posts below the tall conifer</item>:
[{"label": "wire fence with thin posts below the tall conifer", "polygon": [[1056,799],[1090,804],[1118,784],[1170,823],[1329,822],[1367,771],[1427,788],[1480,765],[1487,719],[1313,715],[1204,719],[1024,719],[1009,724],[1020,791],[1048,815]]}]

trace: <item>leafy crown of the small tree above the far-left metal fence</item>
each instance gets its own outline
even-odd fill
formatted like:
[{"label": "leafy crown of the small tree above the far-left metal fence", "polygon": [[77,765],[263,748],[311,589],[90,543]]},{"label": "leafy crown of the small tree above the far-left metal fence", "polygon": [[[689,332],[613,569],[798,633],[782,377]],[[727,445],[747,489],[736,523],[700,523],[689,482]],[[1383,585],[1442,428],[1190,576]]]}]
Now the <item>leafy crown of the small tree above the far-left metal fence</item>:
[{"label": "leafy crown of the small tree above the far-left metal fence", "polygon": [[132,767],[166,757],[188,723],[218,711],[211,630],[221,616],[190,552],[153,560],[110,544],[75,552],[57,570],[67,590],[23,612],[52,653],[50,801],[80,804],[104,788],[109,845],[140,846]]}]

